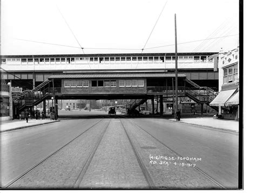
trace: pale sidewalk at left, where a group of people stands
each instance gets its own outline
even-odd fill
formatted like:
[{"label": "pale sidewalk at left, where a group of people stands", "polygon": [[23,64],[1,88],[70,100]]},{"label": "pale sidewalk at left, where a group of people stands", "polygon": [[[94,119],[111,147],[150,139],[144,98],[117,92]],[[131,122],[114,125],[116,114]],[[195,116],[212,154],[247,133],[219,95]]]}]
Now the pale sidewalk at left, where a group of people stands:
[{"label": "pale sidewalk at left, where a group of people stands", "polygon": [[1,133],[6,131],[18,130],[20,128],[33,127],[38,125],[44,125],[49,123],[55,123],[59,120],[50,120],[50,119],[29,119],[28,123],[26,120],[6,120],[1,122]]}]

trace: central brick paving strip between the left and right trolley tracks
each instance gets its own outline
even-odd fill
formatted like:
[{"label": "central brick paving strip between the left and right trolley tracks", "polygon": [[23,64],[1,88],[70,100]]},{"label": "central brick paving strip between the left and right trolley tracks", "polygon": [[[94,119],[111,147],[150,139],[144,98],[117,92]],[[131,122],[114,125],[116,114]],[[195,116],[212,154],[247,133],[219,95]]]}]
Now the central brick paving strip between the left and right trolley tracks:
[{"label": "central brick paving strip between the left and right trolley tracks", "polygon": [[120,119],[111,119],[80,188],[147,188]]}]

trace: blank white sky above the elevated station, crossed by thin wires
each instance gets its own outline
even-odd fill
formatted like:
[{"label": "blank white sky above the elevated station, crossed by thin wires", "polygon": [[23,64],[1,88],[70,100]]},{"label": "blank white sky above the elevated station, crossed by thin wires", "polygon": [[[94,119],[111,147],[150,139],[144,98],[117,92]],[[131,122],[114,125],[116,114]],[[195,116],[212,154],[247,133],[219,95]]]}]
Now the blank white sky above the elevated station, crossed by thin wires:
[{"label": "blank white sky above the elevated station, crossed by thin wires", "polygon": [[[2,0],[2,55],[141,53],[166,0]],[[75,34],[78,42],[70,31]],[[174,13],[178,44],[206,38],[231,37],[178,45],[178,52],[218,52],[237,47],[238,0],[169,0],[145,48],[172,45]],[[203,43],[203,44],[201,44]],[[119,48],[119,49],[86,49]],[[137,50],[124,50],[130,48]],[[174,46],[144,53],[175,52]]]}]

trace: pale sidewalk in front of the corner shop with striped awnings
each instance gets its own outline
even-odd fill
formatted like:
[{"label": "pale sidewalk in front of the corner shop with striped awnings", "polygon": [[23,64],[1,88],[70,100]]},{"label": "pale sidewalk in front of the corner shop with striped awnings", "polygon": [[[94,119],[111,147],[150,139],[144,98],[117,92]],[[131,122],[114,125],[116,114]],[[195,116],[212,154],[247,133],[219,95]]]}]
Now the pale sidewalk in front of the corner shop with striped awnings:
[{"label": "pale sidewalk in front of the corner shop with striped awnings", "polygon": [[[176,119],[169,119],[176,121]],[[239,121],[237,120],[227,120],[227,119],[213,119],[212,117],[194,117],[194,118],[181,118],[179,123],[197,125],[208,128],[215,128],[218,130],[239,132]]]}]

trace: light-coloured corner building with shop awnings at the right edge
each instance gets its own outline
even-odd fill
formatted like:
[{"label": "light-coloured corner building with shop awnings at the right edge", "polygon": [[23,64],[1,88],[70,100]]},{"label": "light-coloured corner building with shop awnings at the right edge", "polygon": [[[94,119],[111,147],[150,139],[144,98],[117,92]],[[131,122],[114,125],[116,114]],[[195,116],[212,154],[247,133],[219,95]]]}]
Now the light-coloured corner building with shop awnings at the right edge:
[{"label": "light-coloured corner building with shop awnings at the right edge", "polygon": [[219,54],[219,94],[210,103],[224,119],[239,119],[239,46]]}]

